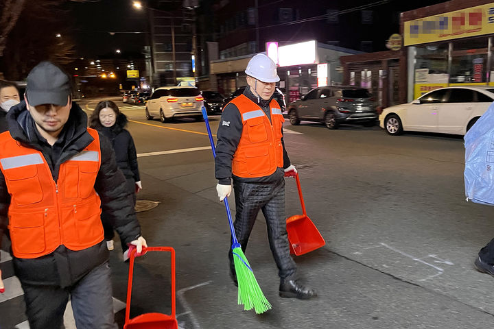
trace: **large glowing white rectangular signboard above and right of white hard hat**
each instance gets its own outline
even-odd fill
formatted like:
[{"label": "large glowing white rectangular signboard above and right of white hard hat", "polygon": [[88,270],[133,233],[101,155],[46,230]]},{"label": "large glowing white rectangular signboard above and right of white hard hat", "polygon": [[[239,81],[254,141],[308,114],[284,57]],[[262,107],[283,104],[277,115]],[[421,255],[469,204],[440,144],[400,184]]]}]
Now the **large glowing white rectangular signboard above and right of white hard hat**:
[{"label": "large glowing white rectangular signboard above and right of white hard hat", "polygon": [[279,66],[314,64],[316,47],[315,40],[278,47],[278,64]]}]

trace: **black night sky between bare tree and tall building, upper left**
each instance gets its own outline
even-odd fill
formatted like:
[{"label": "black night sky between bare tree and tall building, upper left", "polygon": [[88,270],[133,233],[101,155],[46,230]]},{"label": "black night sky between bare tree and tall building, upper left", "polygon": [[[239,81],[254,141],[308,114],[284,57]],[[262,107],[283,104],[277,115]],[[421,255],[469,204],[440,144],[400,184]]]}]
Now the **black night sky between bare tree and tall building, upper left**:
[{"label": "black night sky between bare tree and tall building, upper left", "polygon": [[[76,50],[85,58],[113,57],[116,49],[125,57],[141,53],[146,34],[110,35],[108,32],[145,32],[144,9],[137,10],[131,0],[70,1]],[[115,56],[116,57],[116,56]]]}]

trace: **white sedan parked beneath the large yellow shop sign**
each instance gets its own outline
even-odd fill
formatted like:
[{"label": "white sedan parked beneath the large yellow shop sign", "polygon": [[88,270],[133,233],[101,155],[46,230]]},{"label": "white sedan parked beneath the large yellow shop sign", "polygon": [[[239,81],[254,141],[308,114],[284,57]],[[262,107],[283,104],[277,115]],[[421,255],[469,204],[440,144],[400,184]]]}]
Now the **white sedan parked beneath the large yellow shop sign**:
[{"label": "white sedan parked beneath the large yellow shop sign", "polygon": [[439,88],[411,103],[385,108],[379,125],[390,135],[404,131],[464,135],[494,101],[494,88]]}]

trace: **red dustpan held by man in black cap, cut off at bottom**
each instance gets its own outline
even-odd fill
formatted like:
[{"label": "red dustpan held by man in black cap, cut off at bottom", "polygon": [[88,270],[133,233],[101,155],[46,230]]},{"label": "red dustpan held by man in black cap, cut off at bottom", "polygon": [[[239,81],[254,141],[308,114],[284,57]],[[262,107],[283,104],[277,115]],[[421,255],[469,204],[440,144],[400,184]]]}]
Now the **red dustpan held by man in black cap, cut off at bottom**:
[{"label": "red dustpan held by man in black cap, cut off at bottom", "polygon": [[137,250],[134,246],[130,249],[129,279],[127,287],[127,309],[124,329],[178,329],[175,317],[175,249],[172,247],[143,247],[142,254],[146,252],[169,252],[172,258],[172,314],[145,313],[130,319],[130,297],[132,295],[132,274],[134,273],[134,258]]}]

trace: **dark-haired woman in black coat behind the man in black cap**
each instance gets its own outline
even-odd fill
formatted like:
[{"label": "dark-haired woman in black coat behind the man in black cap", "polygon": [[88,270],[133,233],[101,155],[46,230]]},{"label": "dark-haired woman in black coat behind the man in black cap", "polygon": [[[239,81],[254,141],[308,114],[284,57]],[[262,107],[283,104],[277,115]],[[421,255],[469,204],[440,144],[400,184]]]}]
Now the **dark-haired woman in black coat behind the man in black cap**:
[{"label": "dark-haired woman in black coat behind the man in black cap", "polygon": [[[113,101],[100,101],[89,117],[89,127],[101,132],[108,138],[115,151],[117,166],[124,173],[127,180],[127,188],[136,203],[136,193],[142,189],[141,178],[139,177],[139,167],[137,165],[137,152],[134,140],[128,130],[127,117],[120,112],[117,104]],[[102,222],[106,246],[108,250],[113,250],[113,223],[108,216],[102,212]],[[123,246],[124,247],[124,246]]]}]

